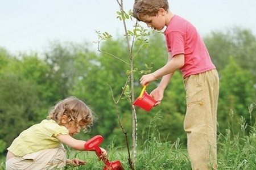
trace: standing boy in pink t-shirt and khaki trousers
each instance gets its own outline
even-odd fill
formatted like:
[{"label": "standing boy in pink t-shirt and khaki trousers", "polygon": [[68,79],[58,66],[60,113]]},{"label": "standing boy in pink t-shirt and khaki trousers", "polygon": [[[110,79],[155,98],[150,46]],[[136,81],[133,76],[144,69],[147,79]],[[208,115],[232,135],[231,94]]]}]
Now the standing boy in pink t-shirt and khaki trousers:
[{"label": "standing boy in pink t-shirt and khaki trousers", "polygon": [[168,61],[154,73],[143,75],[142,86],[162,77],[150,94],[158,105],[172,75],[181,70],[187,100],[184,130],[192,169],[217,169],[219,79],[203,40],[191,23],[169,10],[167,0],[135,0],[133,15],[152,29],[166,27]]}]

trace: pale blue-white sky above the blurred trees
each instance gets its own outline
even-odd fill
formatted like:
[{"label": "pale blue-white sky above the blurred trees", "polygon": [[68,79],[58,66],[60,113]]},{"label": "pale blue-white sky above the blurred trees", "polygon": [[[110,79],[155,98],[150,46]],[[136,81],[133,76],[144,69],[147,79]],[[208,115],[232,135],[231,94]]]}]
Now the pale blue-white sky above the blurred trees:
[{"label": "pale blue-white sky above the blurred trees", "polygon": [[[126,11],[133,8],[133,2],[123,0]],[[234,27],[250,29],[256,36],[255,0],[168,2],[170,10],[195,25],[201,36]],[[88,42],[93,48],[95,31],[123,35],[118,10],[117,0],[1,0],[0,47],[13,54],[44,52],[55,41]],[[134,23],[128,22],[128,29]]]}]

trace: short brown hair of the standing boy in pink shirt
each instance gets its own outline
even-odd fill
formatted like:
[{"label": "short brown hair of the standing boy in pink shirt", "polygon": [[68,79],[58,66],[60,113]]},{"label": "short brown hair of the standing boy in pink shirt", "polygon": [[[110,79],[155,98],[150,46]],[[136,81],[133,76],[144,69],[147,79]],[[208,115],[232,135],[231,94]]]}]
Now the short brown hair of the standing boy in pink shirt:
[{"label": "short brown hair of the standing boy in pink shirt", "polygon": [[159,8],[168,12],[169,4],[167,0],[135,0],[133,5],[133,16],[141,21],[141,16],[156,16]]}]

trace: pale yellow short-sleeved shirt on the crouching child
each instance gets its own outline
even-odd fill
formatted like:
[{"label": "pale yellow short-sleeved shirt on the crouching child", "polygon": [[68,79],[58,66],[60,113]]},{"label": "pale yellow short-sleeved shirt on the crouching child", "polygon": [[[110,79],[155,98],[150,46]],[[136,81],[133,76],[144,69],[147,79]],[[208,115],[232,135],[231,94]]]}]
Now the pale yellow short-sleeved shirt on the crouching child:
[{"label": "pale yellow short-sleeved shirt on the crouching child", "polygon": [[61,142],[55,138],[59,134],[68,134],[68,129],[53,120],[43,120],[22,131],[7,150],[22,157],[40,150],[57,148],[61,146]]}]

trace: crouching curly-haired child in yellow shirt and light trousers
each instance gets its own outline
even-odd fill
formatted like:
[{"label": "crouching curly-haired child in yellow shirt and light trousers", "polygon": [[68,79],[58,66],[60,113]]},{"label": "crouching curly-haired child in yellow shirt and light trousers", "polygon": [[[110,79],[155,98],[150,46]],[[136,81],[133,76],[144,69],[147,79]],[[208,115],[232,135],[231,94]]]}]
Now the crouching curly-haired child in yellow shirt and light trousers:
[{"label": "crouching curly-haired child in yellow shirt and light trousers", "polygon": [[[93,113],[81,100],[67,97],[49,111],[47,120],[24,130],[14,139],[6,155],[6,169],[61,169],[66,164],[83,165],[80,159],[66,159],[62,145],[85,150],[85,141],[72,137],[93,123]],[[103,148],[101,159],[106,159]]]}]

